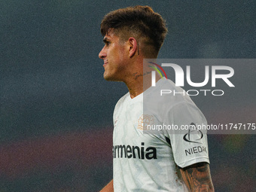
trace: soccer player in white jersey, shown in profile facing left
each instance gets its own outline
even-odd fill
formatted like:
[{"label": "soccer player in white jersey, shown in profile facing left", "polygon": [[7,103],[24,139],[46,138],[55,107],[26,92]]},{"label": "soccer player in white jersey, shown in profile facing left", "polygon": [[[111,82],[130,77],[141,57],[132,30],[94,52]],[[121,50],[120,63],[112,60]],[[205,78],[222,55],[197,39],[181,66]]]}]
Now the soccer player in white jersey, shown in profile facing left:
[{"label": "soccer player in white jersey, shown in profile facing left", "polygon": [[113,180],[101,191],[214,191],[205,133],[143,133],[143,123],[206,123],[188,96],[166,95],[149,111],[143,110],[143,99],[154,98],[159,87],[181,91],[159,77],[152,90],[147,84],[151,73],[143,69],[143,59],[157,58],[163,44],[167,32],[163,18],[148,6],[122,8],[105,15],[101,32],[104,78],[123,81],[129,90],[114,108]]}]

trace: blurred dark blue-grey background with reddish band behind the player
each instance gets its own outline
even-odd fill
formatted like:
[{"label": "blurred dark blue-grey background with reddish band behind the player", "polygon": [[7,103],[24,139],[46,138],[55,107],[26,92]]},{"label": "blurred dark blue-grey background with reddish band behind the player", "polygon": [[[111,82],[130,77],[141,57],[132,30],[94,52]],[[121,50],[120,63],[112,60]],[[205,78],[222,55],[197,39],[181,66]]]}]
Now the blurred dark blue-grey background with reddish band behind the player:
[{"label": "blurred dark blue-grey background with reddish band behind the player", "polygon": [[[102,78],[99,25],[130,5],[150,5],[166,20],[160,58],[255,58],[252,0],[2,0],[1,192],[99,191],[111,180],[112,113],[127,89]],[[256,66],[246,67],[236,66],[245,71],[236,102],[195,99],[209,122],[237,114],[256,123]],[[255,144],[254,135],[209,135],[216,191],[256,191]]]}]

